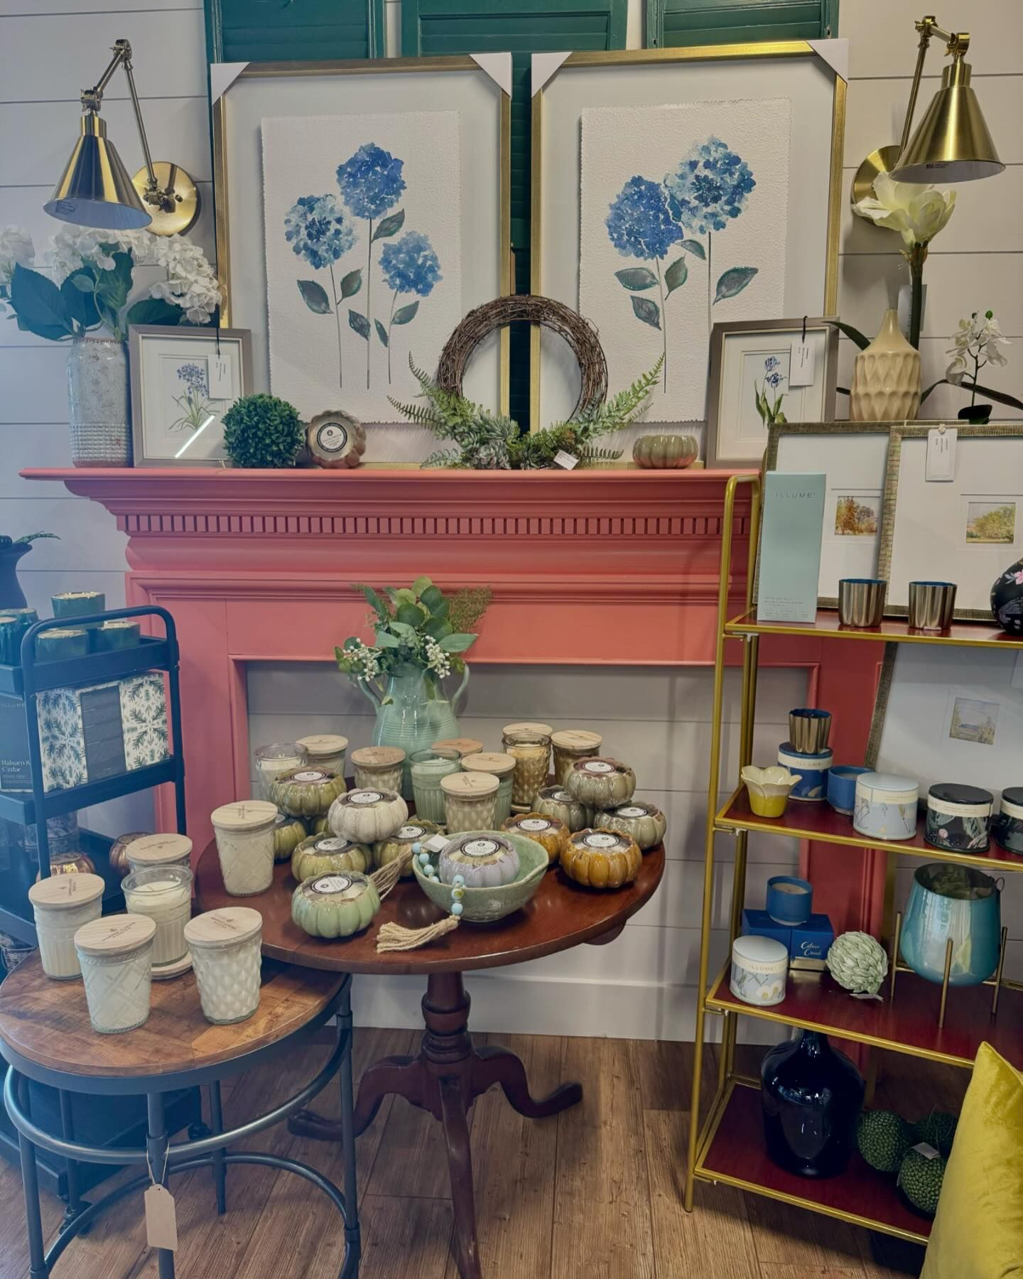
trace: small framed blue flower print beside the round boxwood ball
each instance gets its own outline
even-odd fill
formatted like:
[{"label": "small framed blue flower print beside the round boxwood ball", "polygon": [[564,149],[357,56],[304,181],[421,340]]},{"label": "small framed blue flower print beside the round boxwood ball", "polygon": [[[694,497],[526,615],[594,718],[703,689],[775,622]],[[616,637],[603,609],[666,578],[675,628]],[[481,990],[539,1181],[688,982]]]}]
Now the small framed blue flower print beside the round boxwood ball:
[{"label": "small framed blue flower print beside the round boxwood ball", "polygon": [[224,414],[252,393],[248,329],[132,325],[129,358],[134,464],[225,463]]}]

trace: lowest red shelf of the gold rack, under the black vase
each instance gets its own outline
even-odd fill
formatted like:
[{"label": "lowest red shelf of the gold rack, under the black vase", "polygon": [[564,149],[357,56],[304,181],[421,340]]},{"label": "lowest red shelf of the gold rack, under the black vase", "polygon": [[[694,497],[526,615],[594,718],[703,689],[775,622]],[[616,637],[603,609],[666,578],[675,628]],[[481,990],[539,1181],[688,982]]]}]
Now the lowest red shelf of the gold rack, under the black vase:
[{"label": "lowest red shelf of the gold rack, under the black vase", "polygon": [[697,1164],[702,1181],[724,1181],[756,1195],[854,1221],[919,1243],[931,1223],[899,1198],[895,1178],[876,1173],[854,1154],[839,1177],[813,1179],[779,1168],[763,1142],[760,1088],[735,1085],[710,1149]]}]

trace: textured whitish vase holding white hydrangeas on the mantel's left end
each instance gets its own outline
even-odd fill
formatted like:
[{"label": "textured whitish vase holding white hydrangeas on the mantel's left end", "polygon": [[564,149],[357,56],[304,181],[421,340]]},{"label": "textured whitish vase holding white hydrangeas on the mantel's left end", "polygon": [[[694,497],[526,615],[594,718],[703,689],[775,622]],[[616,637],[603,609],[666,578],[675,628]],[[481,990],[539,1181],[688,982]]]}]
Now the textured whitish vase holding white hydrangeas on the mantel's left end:
[{"label": "textured whitish vase holding white hydrangeas on the mantel's left end", "polygon": [[128,352],[116,338],[75,338],[68,350],[68,418],[77,467],[130,467]]}]

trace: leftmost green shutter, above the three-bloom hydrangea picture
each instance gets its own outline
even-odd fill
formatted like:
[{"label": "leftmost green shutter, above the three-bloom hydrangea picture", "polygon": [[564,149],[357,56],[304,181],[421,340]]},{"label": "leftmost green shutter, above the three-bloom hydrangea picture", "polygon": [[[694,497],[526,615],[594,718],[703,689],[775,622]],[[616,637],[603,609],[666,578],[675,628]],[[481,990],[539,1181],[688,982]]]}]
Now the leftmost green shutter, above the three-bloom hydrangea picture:
[{"label": "leftmost green shutter, above the three-bloom hydrangea picture", "polygon": [[205,0],[211,63],[384,58],[384,0]]}]

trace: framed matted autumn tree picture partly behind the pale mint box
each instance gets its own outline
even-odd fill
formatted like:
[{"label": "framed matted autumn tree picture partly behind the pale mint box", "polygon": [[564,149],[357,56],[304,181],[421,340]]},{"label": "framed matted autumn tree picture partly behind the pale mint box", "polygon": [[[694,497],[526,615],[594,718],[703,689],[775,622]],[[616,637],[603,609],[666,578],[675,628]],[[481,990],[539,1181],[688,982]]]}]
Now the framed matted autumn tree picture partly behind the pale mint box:
[{"label": "framed matted autumn tree picture partly behind the pale mint box", "polygon": [[817,587],[818,604],[825,608],[838,605],[840,578],[877,574],[889,431],[887,422],[770,428],[767,471],[826,476]]}]

